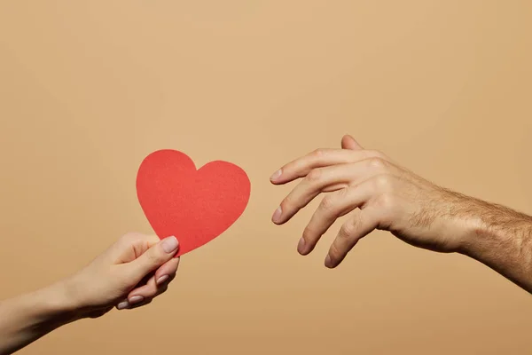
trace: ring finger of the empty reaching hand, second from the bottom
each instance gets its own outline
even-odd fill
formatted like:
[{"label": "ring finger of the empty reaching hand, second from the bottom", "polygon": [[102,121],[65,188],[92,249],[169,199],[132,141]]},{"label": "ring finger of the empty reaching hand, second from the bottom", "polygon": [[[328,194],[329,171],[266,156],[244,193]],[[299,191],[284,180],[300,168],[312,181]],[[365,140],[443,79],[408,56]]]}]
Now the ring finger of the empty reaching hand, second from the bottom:
[{"label": "ring finger of the empty reaching hand, second from the bottom", "polygon": [[303,231],[301,241],[298,243],[298,252],[301,255],[309,254],[337,218],[363,206],[372,198],[374,186],[370,179],[325,196]]}]

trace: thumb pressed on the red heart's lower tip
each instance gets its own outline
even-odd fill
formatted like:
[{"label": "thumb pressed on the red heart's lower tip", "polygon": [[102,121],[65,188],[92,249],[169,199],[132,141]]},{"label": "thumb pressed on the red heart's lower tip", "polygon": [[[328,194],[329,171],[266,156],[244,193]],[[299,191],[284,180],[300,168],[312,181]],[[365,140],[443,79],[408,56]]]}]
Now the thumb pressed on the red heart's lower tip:
[{"label": "thumb pressed on the red heart's lower tip", "polygon": [[175,256],[178,246],[179,242],[174,236],[159,241],[129,264],[131,272],[134,272],[138,280],[142,280],[145,275],[157,270],[160,265]]}]

